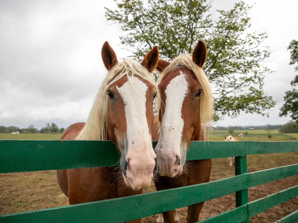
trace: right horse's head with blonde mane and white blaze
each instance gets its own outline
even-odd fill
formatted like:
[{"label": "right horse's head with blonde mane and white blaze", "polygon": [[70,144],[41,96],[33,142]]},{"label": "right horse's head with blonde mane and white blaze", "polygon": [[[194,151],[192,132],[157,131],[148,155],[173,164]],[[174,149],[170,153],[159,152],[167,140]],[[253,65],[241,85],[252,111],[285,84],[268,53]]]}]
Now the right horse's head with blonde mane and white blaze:
[{"label": "right horse's head with blonde mane and white blaze", "polygon": [[159,59],[161,128],[155,152],[161,176],[181,174],[190,141],[206,140],[206,126],[212,119],[212,92],[202,70],[205,59],[206,46],[201,40],[192,56],[179,55],[171,63]]}]

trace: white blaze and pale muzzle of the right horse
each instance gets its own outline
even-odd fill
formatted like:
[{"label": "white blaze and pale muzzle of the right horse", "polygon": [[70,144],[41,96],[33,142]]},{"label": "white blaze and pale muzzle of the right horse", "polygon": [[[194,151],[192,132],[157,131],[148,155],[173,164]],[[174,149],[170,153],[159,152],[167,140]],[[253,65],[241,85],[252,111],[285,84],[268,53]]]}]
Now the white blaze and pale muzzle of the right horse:
[{"label": "white blaze and pale muzzle of the right horse", "polygon": [[[166,101],[165,111],[162,117],[159,142],[156,145],[156,154],[161,161],[161,165],[172,165],[176,162],[176,156],[181,159],[185,151],[181,151],[181,140],[184,121],[181,117],[182,104],[188,92],[188,84],[185,74],[180,71],[180,75],[173,78],[165,90]],[[181,160],[181,164],[185,160]],[[164,162],[164,164],[162,163]],[[167,164],[166,164],[167,163]],[[182,165],[181,165],[182,166]],[[170,167],[169,167],[170,168]],[[167,169],[167,167],[165,167]]]}]

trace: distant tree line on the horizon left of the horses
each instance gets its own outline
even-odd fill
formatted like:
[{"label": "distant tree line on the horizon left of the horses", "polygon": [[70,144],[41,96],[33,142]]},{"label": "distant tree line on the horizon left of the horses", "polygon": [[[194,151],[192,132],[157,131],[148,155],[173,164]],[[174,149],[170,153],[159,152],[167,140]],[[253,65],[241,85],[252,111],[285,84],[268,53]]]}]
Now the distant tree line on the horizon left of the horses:
[{"label": "distant tree line on the horizon left of the horses", "polygon": [[65,129],[64,128],[58,128],[58,126],[55,123],[46,123],[46,126],[41,128],[41,130],[38,131],[37,128],[34,128],[34,125],[29,125],[28,128],[19,128],[15,126],[0,126],[0,134],[1,133],[12,133],[12,132],[19,132],[19,133],[62,133]]}]

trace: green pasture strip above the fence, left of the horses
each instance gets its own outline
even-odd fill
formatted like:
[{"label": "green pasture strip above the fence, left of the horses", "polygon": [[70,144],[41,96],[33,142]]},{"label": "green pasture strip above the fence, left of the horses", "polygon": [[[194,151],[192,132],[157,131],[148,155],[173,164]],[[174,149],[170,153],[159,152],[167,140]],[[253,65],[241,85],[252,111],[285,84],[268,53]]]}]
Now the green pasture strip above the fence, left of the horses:
[{"label": "green pasture strip above the fence, left of the horses", "polygon": [[46,133],[32,133],[32,134],[0,134],[0,139],[60,139],[61,134],[46,134]]}]

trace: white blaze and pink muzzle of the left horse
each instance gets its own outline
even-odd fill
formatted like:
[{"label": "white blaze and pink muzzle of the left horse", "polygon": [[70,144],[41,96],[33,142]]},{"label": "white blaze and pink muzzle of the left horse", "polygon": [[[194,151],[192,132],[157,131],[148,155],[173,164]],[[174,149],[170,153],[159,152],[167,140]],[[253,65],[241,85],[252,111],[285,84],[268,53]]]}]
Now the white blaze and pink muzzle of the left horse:
[{"label": "white blaze and pink muzzle of the left horse", "polygon": [[[116,88],[125,106],[128,140],[128,148],[125,151],[127,153],[125,160],[128,163],[126,178],[130,186],[135,189],[140,185],[141,188],[144,188],[142,185],[148,184],[148,182],[150,186],[156,154],[152,147],[146,118],[146,91],[148,87],[137,77],[133,78],[133,85],[134,89],[130,81],[127,81],[122,87],[117,86]],[[147,179],[150,177],[151,179]],[[146,182],[144,183],[144,181]]]}]

